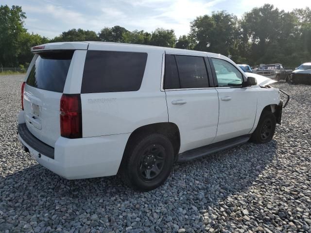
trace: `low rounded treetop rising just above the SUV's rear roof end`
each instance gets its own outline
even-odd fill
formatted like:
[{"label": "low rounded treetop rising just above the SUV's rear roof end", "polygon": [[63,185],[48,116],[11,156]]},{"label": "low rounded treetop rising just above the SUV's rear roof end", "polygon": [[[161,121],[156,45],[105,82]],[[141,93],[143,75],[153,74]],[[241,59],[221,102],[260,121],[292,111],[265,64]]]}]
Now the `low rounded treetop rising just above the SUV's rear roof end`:
[{"label": "low rounded treetop rising just above the SUV's rear roof end", "polygon": [[70,29],[67,32],[63,32],[61,35],[54,37],[51,42],[60,41],[99,41],[100,38],[94,31],[83,29]]}]

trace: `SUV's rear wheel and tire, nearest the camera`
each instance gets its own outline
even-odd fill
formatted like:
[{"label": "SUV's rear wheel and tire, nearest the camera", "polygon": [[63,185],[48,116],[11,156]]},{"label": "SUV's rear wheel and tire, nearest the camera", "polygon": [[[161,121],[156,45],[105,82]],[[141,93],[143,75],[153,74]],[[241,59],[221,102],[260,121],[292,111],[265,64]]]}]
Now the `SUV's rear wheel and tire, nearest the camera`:
[{"label": "SUV's rear wheel and tire, nearest the camera", "polygon": [[170,175],[174,149],[160,133],[141,135],[130,142],[121,165],[121,178],[128,186],[149,191],[163,184]]}]

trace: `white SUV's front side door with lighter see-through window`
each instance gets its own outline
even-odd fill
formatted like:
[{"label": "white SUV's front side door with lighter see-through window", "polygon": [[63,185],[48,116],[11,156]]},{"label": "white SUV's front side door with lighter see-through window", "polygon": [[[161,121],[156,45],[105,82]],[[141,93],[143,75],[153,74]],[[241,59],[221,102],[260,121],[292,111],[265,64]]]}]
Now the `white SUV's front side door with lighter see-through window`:
[{"label": "white SUV's front side door with lighter see-through window", "polygon": [[214,142],[248,134],[257,110],[257,88],[242,87],[240,70],[220,58],[209,58],[219,97],[219,122]]}]

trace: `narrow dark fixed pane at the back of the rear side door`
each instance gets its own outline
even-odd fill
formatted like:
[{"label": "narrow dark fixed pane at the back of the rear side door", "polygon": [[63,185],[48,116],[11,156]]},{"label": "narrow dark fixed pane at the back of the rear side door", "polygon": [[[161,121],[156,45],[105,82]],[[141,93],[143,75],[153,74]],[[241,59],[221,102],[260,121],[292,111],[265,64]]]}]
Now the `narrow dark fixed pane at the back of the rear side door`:
[{"label": "narrow dark fixed pane at the back of the rear side door", "polygon": [[180,88],[180,83],[175,56],[171,54],[166,54],[165,71],[164,71],[164,89],[178,89],[178,88]]}]

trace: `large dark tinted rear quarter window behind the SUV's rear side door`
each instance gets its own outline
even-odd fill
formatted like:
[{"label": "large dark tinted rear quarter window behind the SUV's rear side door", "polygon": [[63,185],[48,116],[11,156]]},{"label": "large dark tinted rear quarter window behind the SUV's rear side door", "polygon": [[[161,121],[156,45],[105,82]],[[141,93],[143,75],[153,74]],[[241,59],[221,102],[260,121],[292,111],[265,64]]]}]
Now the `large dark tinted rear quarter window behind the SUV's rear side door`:
[{"label": "large dark tinted rear quarter window behind the SUV's rear side door", "polygon": [[146,62],[147,53],[89,50],[81,93],[137,91]]}]

